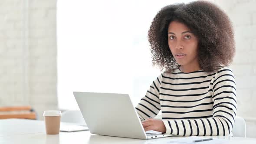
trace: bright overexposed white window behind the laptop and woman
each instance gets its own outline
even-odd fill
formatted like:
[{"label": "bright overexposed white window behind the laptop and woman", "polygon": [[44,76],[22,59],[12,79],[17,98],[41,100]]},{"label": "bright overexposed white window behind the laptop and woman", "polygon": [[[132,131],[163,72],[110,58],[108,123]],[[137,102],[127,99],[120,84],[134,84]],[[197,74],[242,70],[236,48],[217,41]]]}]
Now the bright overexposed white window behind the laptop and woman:
[{"label": "bright overexposed white window behind the laptop and woman", "polygon": [[59,0],[59,108],[79,109],[73,91],[127,93],[134,105],[161,74],[148,29],[164,6],[190,0]]}]

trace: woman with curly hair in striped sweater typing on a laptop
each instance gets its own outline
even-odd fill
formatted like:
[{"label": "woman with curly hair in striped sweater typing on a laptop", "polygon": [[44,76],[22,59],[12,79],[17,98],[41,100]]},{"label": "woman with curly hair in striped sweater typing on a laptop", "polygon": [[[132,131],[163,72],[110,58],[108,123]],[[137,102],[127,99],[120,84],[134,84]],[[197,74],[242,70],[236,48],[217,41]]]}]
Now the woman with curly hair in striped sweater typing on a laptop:
[{"label": "woman with curly hair in striped sweater typing on a laptop", "polygon": [[[165,68],[136,106],[145,131],[229,135],[236,117],[229,17],[206,1],[163,7],[148,31],[153,65]],[[162,120],[154,119],[162,111]]]}]

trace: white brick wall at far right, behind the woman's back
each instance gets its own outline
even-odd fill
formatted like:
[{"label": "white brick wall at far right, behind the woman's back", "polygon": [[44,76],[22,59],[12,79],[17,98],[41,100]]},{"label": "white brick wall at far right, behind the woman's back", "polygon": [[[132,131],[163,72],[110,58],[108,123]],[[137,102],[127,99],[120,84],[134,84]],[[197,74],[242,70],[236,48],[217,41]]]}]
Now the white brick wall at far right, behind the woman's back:
[{"label": "white brick wall at far right, behind the woman's back", "polygon": [[256,0],[210,0],[230,17],[235,31],[237,115],[246,120],[247,137],[256,137]]}]

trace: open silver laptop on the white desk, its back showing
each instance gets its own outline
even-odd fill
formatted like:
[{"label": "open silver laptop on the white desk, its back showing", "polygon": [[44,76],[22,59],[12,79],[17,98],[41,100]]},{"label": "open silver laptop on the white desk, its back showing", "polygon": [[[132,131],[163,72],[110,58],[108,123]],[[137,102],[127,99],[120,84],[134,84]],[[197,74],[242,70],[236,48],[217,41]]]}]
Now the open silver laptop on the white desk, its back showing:
[{"label": "open silver laptop on the white desk, its back showing", "polygon": [[128,94],[73,92],[91,134],[152,139],[170,137],[158,131],[144,131]]}]

